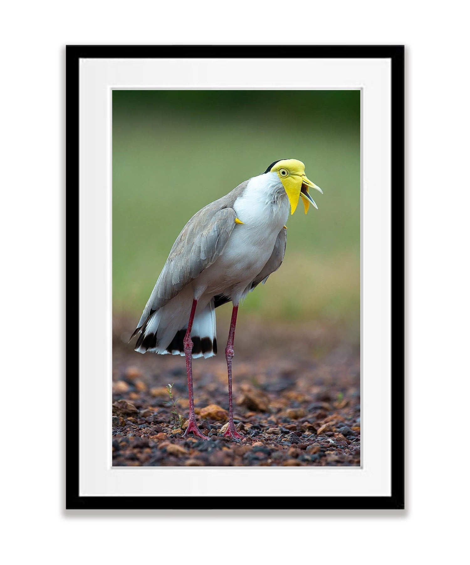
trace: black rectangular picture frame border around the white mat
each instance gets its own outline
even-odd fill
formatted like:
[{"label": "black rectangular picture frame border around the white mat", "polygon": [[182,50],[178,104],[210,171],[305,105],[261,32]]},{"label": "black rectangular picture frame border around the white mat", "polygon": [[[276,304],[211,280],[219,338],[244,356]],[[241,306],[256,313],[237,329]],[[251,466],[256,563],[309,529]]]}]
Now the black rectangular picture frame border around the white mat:
[{"label": "black rectangular picture frame border around the white mat", "polygon": [[[404,451],[404,46],[150,46],[71,45],[66,48],[66,399],[65,503],[67,509],[403,509]],[[80,496],[78,301],[78,87],[82,58],[381,58],[392,69],[392,443],[391,495],[362,497]],[[73,324],[73,326],[72,326]]]}]

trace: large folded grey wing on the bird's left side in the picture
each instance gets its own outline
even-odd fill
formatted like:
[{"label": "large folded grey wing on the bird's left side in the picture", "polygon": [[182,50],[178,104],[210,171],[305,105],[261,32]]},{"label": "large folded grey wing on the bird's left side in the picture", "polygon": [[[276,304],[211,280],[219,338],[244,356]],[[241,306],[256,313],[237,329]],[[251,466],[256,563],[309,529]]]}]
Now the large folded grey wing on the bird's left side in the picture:
[{"label": "large folded grey wing on the bird's left side in the picture", "polygon": [[222,254],[232,229],[235,210],[221,209],[221,200],[199,210],[183,228],[166,259],[138,323],[164,306]]}]

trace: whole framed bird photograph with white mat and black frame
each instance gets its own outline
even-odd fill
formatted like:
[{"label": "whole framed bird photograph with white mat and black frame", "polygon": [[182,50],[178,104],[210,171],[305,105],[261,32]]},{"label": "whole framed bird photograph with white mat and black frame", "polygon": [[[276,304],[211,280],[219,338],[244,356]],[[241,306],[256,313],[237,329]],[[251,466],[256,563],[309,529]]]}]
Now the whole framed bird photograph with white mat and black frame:
[{"label": "whole framed bird photograph with white mat and black frame", "polygon": [[67,47],[68,509],[403,509],[403,68]]}]

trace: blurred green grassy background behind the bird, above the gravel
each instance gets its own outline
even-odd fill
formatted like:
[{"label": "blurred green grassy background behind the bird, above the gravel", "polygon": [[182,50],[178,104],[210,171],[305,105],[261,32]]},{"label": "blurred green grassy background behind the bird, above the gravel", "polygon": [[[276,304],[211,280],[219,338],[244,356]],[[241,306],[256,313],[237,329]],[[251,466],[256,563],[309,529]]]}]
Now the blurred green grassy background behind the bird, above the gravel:
[{"label": "blurred green grassy background behind the bird, above the gravel", "polygon": [[[288,221],[282,267],[245,315],[359,338],[359,90],[114,90],[113,315],[138,320],[193,214],[276,159],[305,163],[319,210]],[[230,307],[218,308],[218,316]]]}]

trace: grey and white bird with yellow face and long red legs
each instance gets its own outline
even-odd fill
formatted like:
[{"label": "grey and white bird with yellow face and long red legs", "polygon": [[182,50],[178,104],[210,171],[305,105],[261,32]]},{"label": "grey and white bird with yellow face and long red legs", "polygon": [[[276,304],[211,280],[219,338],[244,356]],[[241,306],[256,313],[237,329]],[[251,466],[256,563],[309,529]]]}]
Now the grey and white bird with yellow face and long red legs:
[{"label": "grey and white bird with yellow face and long red legs", "polygon": [[229,425],[225,436],[235,441],[232,359],[240,302],[264,284],[284,259],[287,220],[300,199],[305,214],[318,206],[309,188],[322,189],[305,175],[297,159],[279,159],[266,171],[241,182],[225,196],[196,212],[182,229],[129,341],[135,351],[186,358],[189,419],[184,437],[203,440],[194,410],[192,359],[217,354],[216,308],[232,302],[225,348],[229,389]]}]

